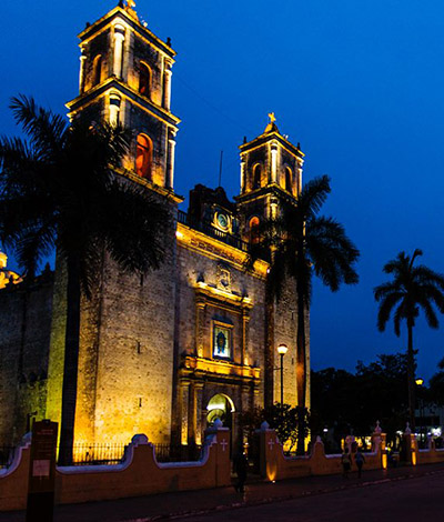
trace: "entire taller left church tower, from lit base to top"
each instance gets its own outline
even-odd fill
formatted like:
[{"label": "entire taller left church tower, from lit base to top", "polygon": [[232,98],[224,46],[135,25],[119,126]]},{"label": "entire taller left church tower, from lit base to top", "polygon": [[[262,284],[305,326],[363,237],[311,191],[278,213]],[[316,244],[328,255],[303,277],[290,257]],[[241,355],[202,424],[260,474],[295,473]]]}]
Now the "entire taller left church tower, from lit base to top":
[{"label": "entire taller left church tower, from lit base to top", "polygon": [[[82,299],[75,443],[128,443],[134,433],[155,442],[171,435],[176,272],[174,145],[179,119],[171,112],[170,41],[141,22],[134,1],[121,1],[80,33],[80,93],[69,116],[123,123],[131,150],[117,172],[165,203],[163,262],[148,274],[122,271],[98,248],[100,267],[91,300]],[[56,270],[47,414],[61,418],[65,328],[65,273]]]}]

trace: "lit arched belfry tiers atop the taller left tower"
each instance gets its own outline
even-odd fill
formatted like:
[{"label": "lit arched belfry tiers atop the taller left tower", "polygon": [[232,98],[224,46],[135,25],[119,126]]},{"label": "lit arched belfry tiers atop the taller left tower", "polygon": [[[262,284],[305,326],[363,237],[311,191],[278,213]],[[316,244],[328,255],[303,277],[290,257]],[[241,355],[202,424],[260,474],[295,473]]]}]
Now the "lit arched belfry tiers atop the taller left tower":
[{"label": "lit arched belfry tiers atop the taller left tower", "polygon": [[173,191],[175,134],[171,112],[175,52],[141,22],[135,2],[119,6],[79,34],[79,97],[67,104],[70,118],[121,122],[133,130],[125,174],[163,193]]}]

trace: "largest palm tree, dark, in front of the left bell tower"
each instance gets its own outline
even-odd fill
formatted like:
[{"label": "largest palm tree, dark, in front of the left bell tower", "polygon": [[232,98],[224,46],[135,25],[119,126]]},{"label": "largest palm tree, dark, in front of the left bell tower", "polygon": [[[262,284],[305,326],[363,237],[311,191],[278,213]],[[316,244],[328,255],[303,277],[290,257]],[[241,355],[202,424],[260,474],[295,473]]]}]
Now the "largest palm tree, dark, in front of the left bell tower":
[{"label": "largest palm tree, dark, in front of the left bell tower", "polygon": [[28,278],[54,249],[67,268],[67,327],[60,462],[72,461],[82,294],[88,299],[101,252],[128,272],[158,268],[165,208],[117,175],[131,134],[120,126],[71,124],[23,96],[11,109],[28,141],[0,138],[0,240]]}]

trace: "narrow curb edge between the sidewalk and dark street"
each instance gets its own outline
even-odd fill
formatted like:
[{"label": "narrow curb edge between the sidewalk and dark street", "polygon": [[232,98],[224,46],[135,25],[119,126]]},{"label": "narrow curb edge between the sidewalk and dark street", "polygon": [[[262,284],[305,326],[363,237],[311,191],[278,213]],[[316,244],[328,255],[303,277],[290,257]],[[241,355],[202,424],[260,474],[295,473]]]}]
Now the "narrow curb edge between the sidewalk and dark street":
[{"label": "narrow curb edge between the sidewalk and dark street", "polygon": [[334,488],[325,488],[321,490],[310,490],[310,491],[303,491],[299,494],[289,494],[289,495],[281,495],[281,496],[268,496],[264,499],[260,500],[248,500],[248,501],[242,501],[242,502],[232,502],[231,504],[223,504],[223,505],[216,505],[214,508],[208,508],[204,510],[191,510],[191,511],[176,511],[174,513],[164,513],[164,514],[159,514],[154,516],[147,516],[147,518],[141,518],[141,519],[122,519],[121,522],[154,522],[159,520],[175,520],[175,519],[186,519],[190,516],[201,516],[201,515],[206,515],[211,514],[214,512],[221,512],[221,511],[231,511],[231,510],[239,510],[242,508],[252,508],[255,505],[264,505],[264,504],[272,504],[274,502],[286,502],[289,500],[295,500],[295,499],[302,499],[305,496],[314,496],[314,495],[321,495],[325,493],[334,493],[337,491],[344,491],[344,490],[352,490],[352,489],[359,489],[359,488],[369,488],[372,485],[380,485],[380,484],[386,484],[389,482],[397,482],[402,480],[410,480],[410,479],[421,479],[422,476],[430,476],[430,475],[436,475],[436,474],[444,474],[444,470],[437,470],[437,471],[425,471],[424,473],[420,474],[412,474],[412,473],[406,473],[400,476],[394,476],[393,479],[379,479],[374,481],[366,481],[366,482],[357,482],[354,484],[350,485],[337,485]]}]

